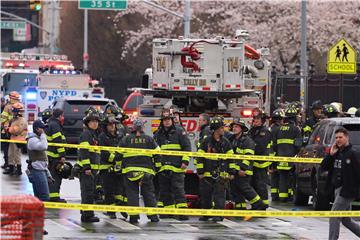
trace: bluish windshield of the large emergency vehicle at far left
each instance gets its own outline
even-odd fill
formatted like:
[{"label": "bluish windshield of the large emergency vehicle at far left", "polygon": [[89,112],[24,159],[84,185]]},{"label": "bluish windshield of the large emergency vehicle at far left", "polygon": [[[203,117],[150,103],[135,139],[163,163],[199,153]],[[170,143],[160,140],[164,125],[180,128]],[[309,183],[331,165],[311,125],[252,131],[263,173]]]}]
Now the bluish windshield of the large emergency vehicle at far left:
[{"label": "bluish windshield of the large emergency vehicle at far left", "polygon": [[36,73],[6,73],[3,77],[4,94],[21,91],[25,86],[37,86]]}]

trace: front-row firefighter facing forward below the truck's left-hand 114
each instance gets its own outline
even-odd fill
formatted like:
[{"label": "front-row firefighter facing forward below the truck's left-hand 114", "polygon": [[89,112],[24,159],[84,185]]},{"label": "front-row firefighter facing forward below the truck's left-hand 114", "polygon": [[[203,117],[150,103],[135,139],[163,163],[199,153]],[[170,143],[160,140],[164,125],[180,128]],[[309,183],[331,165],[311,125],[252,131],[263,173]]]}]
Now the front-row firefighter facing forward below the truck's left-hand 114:
[{"label": "front-row firefighter facing forward below the truck's left-hand 114", "polygon": [[[162,150],[191,151],[190,140],[181,127],[174,124],[174,116],[165,109],[161,114],[161,122],[154,139]],[[188,156],[162,157],[158,181],[160,202],[168,208],[187,208],[184,190],[185,169],[189,164]],[[165,216],[162,216],[165,217]],[[187,216],[178,216],[179,220],[188,220]]]}]

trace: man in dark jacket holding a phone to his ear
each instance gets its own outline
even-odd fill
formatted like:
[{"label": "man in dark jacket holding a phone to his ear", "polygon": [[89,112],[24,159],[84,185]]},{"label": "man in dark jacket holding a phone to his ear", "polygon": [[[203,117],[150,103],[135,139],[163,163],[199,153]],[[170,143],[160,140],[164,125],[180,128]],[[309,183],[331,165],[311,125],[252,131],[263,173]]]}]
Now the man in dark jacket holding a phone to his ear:
[{"label": "man in dark jacket holding a phone to his ear", "polygon": [[[351,203],[359,197],[360,153],[352,149],[349,133],[345,128],[335,131],[335,144],[321,162],[320,168],[329,171],[328,178],[335,189],[331,211],[350,211]],[[329,240],[339,238],[340,222],[360,238],[360,225],[349,217],[330,218]]]}]

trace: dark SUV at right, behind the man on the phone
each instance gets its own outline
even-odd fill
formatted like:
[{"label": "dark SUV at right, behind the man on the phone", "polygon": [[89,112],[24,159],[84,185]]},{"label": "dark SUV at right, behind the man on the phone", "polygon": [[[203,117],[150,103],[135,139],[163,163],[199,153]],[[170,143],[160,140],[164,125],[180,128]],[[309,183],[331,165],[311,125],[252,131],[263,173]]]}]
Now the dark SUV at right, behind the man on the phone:
[{"label": "dark SUV at right, behind the man on the phone", "polygon": [[[300,157],[323,158],[330,152],[335,142],[335,131],[344,127],[349,131],[350,143],[360,151],[360,118],[329,118],[321,120],[310,136],[308,144],[300,151]],[[313,196],[315,210],[327,210],[333,199],[332,192],[326,189],[327,171],[320,170],[320,164],[297,163],[295,204],[307,205]]]}]

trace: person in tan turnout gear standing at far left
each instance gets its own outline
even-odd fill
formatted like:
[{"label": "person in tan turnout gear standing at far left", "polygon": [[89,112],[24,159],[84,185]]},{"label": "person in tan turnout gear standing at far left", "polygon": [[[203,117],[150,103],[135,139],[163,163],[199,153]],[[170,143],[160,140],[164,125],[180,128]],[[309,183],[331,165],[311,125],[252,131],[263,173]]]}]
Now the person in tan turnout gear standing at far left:
[{"label": "person in tan turnout gear standing at far left", "polygon": [[[10,120],[7,131],[10,133],[10,140],[25,141],[27,136],[27,121],[23,117],[24,105],[22,103],[14,103],[11,108],[12,119]],[[9,168],[4,174],[21,175],[21,149],[23,144],[9,144]]]}]

